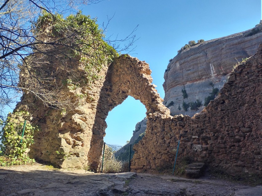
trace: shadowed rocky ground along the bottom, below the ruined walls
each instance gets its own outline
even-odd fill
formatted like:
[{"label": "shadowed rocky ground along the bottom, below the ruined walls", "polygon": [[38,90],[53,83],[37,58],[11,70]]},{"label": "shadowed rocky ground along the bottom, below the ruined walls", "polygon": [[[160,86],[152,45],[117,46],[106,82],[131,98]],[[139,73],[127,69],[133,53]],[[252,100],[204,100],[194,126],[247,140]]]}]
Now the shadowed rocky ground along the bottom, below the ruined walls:
[{"label": "shadowed rocky ground along the bottom, below the ruined walls", "polygon": [[168,175],[100,174],[58,170],[43,164],[0,167],[1,196],[261,196],[261,186],[249,187],[205,175],[185,179]]}]

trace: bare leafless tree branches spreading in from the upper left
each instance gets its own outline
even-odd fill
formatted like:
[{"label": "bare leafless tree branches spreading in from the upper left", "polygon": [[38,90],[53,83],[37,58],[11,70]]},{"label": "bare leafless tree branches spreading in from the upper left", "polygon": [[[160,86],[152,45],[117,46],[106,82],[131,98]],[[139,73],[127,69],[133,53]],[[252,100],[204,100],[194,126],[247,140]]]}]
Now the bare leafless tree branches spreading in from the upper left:
[{"label": "bare leafless tree branches spreading in from the upper left", "polygon": [[[59,109],[73,108],[75,104],[78,104],[76,101],[72,101],[73,97],[70,92],[62,90],[68,84],[65,84],[65,77],[61,78],[61,76],[71,74],[73,78],[79,78],[77,75],[80,73],[77,74],[75,70],[79,70],[79,67],[76,66],[79,66],[78,62],[81,55],[93,57],[90,58],[90,61],[92,61],[95,58],[99,59],[99,55],[105,51],[101,51],[98,47],[101,43],[94,41],[90,42],[90,47],[93,50],[88,53],[79,50],[79,46],[86,43],[72,42],[72,40],[80,39],[77,31],[75,31],[76,29],[73,28],[65,28],[64,32],[60,32],[59,36],[54,37],[52,27],[56,22],[55,20],[58,19],[53,13],[68,14],[74,11],[79,4],[98,3],[100,1],[0,0],[1,119],[5,119],[5,107],[14,107],[14,101],[21,96],[21,94],[18,94],[19,92],[32,93],[44,104]],[[42,11],[50,13],[54,18],[50,20],[50,23],[38,26],[38,18]],[[104,27],[105,31],[107,25]],[[119,51],[125,51],[133,44],[135,36],[132,32],[121,40],[103,40],[103,42],[111,43],[115,47],[117,47],[115,44],[119,41],[127,41],[127,45],[119,49]],[[76,57],[72,54],[72,51],[77,51],[80,55]],[[87,70],[86,68],[80,69],[80,72],[83,70],[94,72],[94,70]],[[74,85],[81,82],[67,83]]]}]

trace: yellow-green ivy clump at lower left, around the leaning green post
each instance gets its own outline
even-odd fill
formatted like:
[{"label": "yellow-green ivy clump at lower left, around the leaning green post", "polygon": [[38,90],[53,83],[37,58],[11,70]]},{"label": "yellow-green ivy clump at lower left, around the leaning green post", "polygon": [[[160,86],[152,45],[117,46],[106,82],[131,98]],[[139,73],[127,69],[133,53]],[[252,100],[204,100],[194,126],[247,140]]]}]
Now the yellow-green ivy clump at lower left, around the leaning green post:
[{"label": "yellow-green ivy clump at lower left, around the leaning green post", "polygon": [[0,164],[2,166],[35,162],[34,159],[29,158],[25,151],[33,144],[33,134],[38,129],[26,123],[22,138],[24,119],[28,117],[27,111],[19,111],[10,114],[3,123],[4,127],[0,133],[0,141],[2,141],[0,144]]}]

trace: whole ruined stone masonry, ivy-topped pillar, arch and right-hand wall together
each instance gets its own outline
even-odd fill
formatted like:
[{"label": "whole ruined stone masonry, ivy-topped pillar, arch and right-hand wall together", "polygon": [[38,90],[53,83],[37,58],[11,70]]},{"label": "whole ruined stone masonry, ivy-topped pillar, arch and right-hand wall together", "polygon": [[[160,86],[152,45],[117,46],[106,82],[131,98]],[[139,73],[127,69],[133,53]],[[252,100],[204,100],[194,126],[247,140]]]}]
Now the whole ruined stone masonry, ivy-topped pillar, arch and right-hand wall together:
[{"label": "whole ruined stone masonry, ivy-topped pillar, arch and right-hand wall together", "polygon": [[[29,123],[40,127],[29,154],[62,168],[100,168],[108,112],[127,96],[147,109],[145,137],[134,146],[132,171],[155,170],[190,157],[231,175],[259,175],[261,171],[261,45],[257,54],[230,74],[219,96],[193,118],[170,116],[154,85],[146,62],[122,55],[101,70],[92,87],[84,84],[71,93],[88,91],[92,99],[66,115],[43,107],[25,93],[16,110],[32,114]],[[76,96],[76,94],[74,94]],[[77,96],[76,96],[77,97]],[[57,153],[58,152],[58,153]]]}]

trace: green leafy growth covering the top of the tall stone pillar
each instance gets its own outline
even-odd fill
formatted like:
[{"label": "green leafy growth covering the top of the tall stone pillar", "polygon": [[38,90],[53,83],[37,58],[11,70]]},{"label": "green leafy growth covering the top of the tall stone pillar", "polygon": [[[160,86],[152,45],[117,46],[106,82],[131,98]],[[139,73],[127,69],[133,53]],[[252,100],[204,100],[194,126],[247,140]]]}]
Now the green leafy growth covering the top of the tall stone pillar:
[{"label": "green leafy growth covering the top of the tall stone pillar", "polygon": [[[86,71],[88,84],[99,78],[98,73],[103,65],[111,63],[118,56],[115,49],[104,41],[104,32],[96,24],[96,19],[83,15],[81,11],[66,18],[44,11],[34,25],[40,36],[43,29],[51,26],[53,37],[64,38],[59,40],[61,44],[70,44],[71,52],[65,57],[79,59]],[[78,82],[68,78],[68,88],[76,88]]]}]

